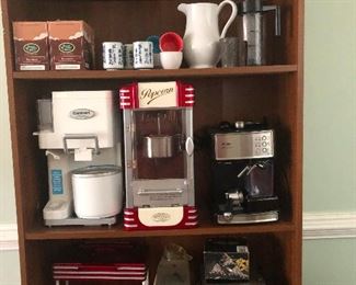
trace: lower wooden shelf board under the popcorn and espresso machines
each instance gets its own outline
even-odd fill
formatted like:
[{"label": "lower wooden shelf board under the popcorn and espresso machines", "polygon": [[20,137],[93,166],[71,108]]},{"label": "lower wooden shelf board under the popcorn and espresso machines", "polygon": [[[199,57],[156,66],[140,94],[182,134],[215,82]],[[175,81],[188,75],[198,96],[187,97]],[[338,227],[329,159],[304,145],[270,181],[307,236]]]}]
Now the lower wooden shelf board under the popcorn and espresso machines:
[{"label": "lower wooden shelf board under the popcorn and espresso machines", "polygon": [[288,221],[277,221],[259,225],[218,226],[211,223],[202,223],[199,227],[180,230],[138,230],[127,231],[123,225],[112,227],[44,227],[41,226],[25,233],[26,240],[62,240],[62,239],[117,239],[139,237],[172,237],[172,236],[218,236],[218,235],[248,235],[291,232],[295,226]]}]

